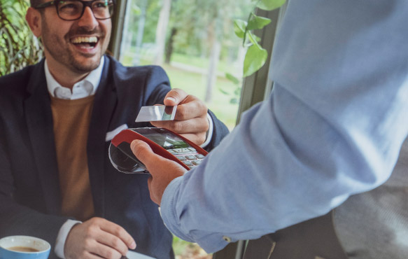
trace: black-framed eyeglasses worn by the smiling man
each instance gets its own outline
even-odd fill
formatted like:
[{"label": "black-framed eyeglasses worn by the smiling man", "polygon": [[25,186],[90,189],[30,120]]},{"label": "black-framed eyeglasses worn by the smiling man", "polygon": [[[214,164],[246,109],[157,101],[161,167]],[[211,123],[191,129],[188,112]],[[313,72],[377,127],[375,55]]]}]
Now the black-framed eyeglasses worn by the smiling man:
[{"label": "black-framed eyeglasses worn by the smiling man", "polygon": [[85,12],[85,7],[89,6],[98,20],[106,20],[112,17],[115,7],[115,0],[55,0],[41,3],[36,9],[55,6],[59,18],[66,21],[78,20]]}]

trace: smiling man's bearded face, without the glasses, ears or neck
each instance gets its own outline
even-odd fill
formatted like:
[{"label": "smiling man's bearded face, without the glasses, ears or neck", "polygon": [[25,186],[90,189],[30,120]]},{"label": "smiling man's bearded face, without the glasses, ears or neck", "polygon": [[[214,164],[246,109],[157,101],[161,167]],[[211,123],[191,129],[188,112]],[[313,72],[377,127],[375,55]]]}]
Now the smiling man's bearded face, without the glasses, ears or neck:
[{"label": "smiling man's bearded face, without the glasses, ears or neck", "polygon": [[73,21],[60,19],[53,6],[44,8],[40,36],[48,66],[73,73],[96,69],[108,48],[111,30],[111,19],[95,19],[89,7],[79,20]]}]

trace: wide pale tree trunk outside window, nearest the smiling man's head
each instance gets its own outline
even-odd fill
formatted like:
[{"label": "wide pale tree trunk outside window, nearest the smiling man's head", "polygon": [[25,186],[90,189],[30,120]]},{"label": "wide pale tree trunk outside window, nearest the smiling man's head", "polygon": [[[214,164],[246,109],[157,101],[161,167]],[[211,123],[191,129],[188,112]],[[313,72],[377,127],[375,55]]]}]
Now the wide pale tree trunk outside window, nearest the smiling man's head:
[{"label": "wide pale tree trunk outside window, nearest the smiling man's head", "polygon": [[160,10],[159,21],[156,29],[156,57],[154,64],[163,64],[164,47],[166,45],[166,31],[169,25],[171,10],[171,0],[163,0],[162,10]]}]

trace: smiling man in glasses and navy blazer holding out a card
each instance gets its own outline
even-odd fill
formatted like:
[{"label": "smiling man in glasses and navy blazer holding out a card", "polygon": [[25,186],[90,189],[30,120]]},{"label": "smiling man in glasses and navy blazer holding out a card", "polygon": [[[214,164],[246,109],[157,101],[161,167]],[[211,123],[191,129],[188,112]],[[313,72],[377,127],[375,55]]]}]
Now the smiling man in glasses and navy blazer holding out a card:
[{"label": "smiling man in glasses and navy blazer holding out a card", "polygon": [[[31,0],[27,22],[45,59],[0,78],[0,237],[31,235],[50,258],[174,258],[148,175],[116,171],[110,140],[141,106],[178,105],[167,127],[209,151],[227,128],[205,104],[171,90],[158,66],[104,55],[113,0]],[[153,124],[153,123],[152,123]]]}]

